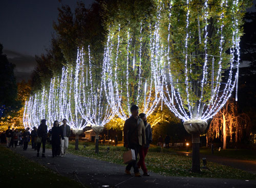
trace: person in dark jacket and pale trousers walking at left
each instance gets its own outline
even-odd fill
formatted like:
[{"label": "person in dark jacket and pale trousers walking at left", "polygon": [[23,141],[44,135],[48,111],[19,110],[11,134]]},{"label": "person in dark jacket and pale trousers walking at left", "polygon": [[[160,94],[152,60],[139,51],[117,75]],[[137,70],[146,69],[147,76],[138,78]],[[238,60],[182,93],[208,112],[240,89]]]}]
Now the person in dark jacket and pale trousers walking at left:
[{"label": "person in dark jacket and pale trousers walking at left", "polygon": [[60,140],[60,149],[61,149],[61,156],[66,155],[66,151],[69,147],[69,137],[71,134],[70,126],[67,124],[67,119],[63,119],[62,123],[63,125],[60,126],[61,131],[63,132],[63,137]]}]

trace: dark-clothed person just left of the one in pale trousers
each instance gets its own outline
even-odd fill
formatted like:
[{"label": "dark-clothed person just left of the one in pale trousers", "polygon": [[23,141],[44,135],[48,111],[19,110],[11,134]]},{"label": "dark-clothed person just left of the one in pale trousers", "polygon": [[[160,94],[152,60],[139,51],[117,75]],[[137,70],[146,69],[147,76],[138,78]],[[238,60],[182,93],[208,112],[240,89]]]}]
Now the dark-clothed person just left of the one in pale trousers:
[{"label": "dark-clothed person just left of the one in pale trousers", "polygon": [[60,138],[63,138],[63,132],[61,130],[61,128],[59,127],[59,122],[56,120],[53,123],[53,127],[52,127],[52,157],[57,156],[58,154],[58,149],[60,146]]}]

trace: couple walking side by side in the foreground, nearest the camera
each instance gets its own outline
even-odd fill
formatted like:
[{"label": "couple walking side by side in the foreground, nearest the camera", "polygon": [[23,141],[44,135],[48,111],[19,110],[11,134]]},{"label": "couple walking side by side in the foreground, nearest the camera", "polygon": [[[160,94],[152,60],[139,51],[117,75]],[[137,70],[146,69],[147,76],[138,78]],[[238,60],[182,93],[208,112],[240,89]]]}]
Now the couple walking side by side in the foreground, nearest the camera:
[{"label": "couple walking side by side in the foreground, nearest the camera", "polygon": [[[139,168],[143,170],[144,176],[149,176],[145,166],[145,156],[152,142],[151,125],[146,122],[146,115],[141,113],[136,105],[131,107],[132,116],[127,119],[123,127],[123,140],[126,148],[134,149],[136,160],[129,163],[125,168],[125,174],[131,175],[131,169],[134,168],[136,177],[140,177]],[[140,154],[139,162],[137,156]]]}]

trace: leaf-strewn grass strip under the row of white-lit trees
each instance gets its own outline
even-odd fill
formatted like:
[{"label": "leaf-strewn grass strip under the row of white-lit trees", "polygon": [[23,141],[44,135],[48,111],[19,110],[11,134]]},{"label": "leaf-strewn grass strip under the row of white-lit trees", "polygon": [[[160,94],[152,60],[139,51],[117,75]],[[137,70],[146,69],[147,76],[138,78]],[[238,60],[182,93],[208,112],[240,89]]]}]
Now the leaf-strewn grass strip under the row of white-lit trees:
[{"label": "leaf-strewn grass strip under the row of white-lit trees", "polygon": [[[106,152],[107,147],[110,147],[109,152]],[[191,168],[190,156],[177,155],[174,151],[169,150],[168,152],[160,152],[160,150],[159,147],[151,147],[145,158],[146,166],[148,170],[152,172],[169,176],[256,179],[256,175],[249,172],[211,162],[207,162],[209,170],[202,169],[201,173],[191,173],[189,171]],[[76,155],[124,165],[122,163],[122,154],[125,151],[125,148],[122,146],[114,147],[111,145],[100,145],[100,153],[95,154],[94,143],[79,143],[79,150],[75,150],[74,142],[70,142],[68,151]],[[203,164],[201,164],[201,166],[203,166]]]}]

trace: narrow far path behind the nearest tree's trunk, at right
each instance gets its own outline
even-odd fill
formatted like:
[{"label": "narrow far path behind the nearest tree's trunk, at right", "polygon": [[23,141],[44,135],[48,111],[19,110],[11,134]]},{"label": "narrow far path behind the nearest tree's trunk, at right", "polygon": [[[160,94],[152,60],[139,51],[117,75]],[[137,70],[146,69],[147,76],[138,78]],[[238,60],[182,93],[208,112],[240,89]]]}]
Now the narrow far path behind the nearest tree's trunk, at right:
[{"label": "narrow far path behind the nearest tree's trunk, at right", "polygon": [[[192,155],[191,152],[177,151],[177,154]],[[253,174],[256,174],[256,161],[253,160],[242,160],[236,158],[227,158],[218,155],[206,155],[200,154],[200,158],[206,157],[209,162],[219,163],[222,165],[230,166],[240,170],[244,170]]]}]

